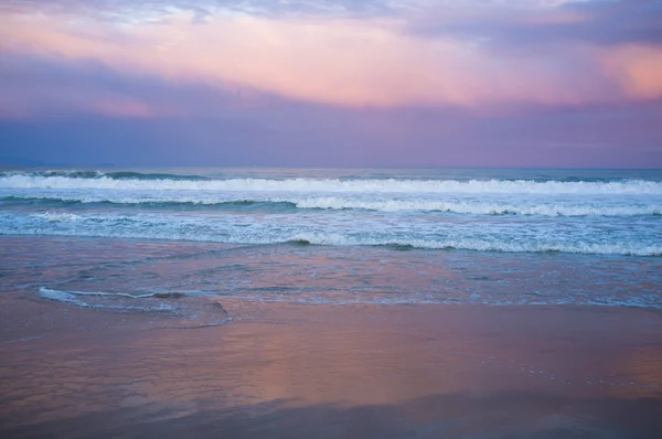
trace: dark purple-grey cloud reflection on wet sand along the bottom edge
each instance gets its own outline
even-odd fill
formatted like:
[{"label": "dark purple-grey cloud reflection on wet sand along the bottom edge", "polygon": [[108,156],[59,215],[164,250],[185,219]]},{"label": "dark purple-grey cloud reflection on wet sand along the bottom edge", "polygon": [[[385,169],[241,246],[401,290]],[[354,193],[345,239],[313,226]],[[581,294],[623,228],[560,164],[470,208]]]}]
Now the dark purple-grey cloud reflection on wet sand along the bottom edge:
[{"label": "dark purple-grey cloud reflection on wet sand along the bottom edge", "polygon": [[118,408],[10,430],[30,437],[200,438],[638,438],[660,435],[659,403],[513,393],[437,395],[401,405],[154,410]]}]

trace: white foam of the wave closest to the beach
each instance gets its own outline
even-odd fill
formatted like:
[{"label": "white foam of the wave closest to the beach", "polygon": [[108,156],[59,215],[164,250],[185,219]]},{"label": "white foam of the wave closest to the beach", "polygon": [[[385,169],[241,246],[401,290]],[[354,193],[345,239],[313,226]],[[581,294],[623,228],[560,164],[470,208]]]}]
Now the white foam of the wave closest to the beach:
[{"label": "white foam of the wave closest to the beach", "polygon": [[[0,234],[88,236],[141,239],[217,242],[226,244],[309,243],[329,246],[409,246],[427,249],[462,249],[508,253],[575,253],[602,255],[662,256],[662,243],[654,228],[630,231],[618,226],[619,235],[606,235],[601,224],[591,228],[555,228],[543,222],[521,227],[503,223],[439,223],[434,217],[397,220],[363,218],[353,214],[325,222],[314,215],[287,224],[287,214],[242,217],[233,215],[189,216],[163,214],[66,216],[52,221],[38,215],[0,214]],[[323,218],[327,220],[327,218]],[[569,221],[569,220],[568,220]],[[575,222],[580,220],[575,220]],[[607,221],[607,220],[606,220]],[[609,220],[612,222],[612,220]],[[627,220],[620,220],[626,225]],[[314,224],[314,222],[319,222]],[[649,221],[650,223],[650,221]],[[655,223],[655,222],[653,222]],[[612,225],[610,227],[613,227]]]}]

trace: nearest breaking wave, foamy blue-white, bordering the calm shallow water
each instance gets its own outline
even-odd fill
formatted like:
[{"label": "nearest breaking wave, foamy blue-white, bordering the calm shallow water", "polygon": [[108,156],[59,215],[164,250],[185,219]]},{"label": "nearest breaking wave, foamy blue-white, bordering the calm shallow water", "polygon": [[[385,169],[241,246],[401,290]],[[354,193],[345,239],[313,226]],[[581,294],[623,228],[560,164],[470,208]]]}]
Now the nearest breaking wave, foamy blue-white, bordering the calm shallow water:
[{"label": "nearest breaking wave, foamy blue-white, bordering the calm shallow water", "polygon": [[0,216],[0,234],[215,242],[237,245],[385,246],[397,249],[662,256],[662,245],[659,242],[601,242],[600,237],[581,235],[568,239],[568,236],[557,236],[554,232],[531,238],[531,231],[517,229],[508,233],[483,233],[482,236],[472,229],[445,229],[446,236],[433,236],[428,235],[429,229],[421,224],[402,234],[397,231],[380,231],[380,224],[366,225],[364,229],[332,231],[338,227],[330,226],[314,231],[306,225],[282,227],[277,221],[267,225],[255,223],[237,226],[225,225],[223,222],[161,215],[108,217],[71,213],[36,214],[21,224],[18,223],[11,216]]}]

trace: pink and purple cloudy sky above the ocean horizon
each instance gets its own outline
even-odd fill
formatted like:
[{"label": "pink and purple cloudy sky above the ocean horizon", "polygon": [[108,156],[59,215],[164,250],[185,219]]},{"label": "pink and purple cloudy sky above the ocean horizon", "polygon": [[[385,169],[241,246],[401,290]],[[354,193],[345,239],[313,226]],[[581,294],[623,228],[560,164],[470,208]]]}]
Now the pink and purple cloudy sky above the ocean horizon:
[{"label": "pink and purple cloudy sky above the ocean horizon", "polygon": [[662,168],[660,0],[0,0],[0,164]]}]

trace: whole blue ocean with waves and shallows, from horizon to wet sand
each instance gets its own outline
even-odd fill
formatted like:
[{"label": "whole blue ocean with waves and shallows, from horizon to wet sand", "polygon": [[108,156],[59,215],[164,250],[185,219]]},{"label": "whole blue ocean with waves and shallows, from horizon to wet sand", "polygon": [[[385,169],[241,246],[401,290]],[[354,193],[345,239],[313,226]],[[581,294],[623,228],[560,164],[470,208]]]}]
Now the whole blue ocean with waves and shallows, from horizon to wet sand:
[{"label": "whole blue ocean with waves and shallows, from horizon to wet sand", "polygon": [[200,324],[210,296],[662,309],[662,171],[4,170],[0,243],[6,290]]}]

